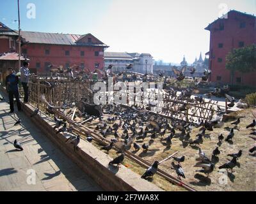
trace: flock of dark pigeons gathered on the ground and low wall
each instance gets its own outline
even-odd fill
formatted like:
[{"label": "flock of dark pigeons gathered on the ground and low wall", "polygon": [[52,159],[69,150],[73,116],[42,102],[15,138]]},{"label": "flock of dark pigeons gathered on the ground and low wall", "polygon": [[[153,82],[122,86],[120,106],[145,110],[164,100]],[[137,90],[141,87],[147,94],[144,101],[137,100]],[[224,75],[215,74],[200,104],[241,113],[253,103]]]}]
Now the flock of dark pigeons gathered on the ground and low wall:
[{"label": "flock of dark pigeons gathered on the ground and low wall", "polygon": [[[35,117],[38,112],[39,110],[36,108],[31,114],[31,117]],[[110,161],[109,165],[116,164],[119,166],[124,161],[124,150],[133,149],[134,153],[140,150],[142,150],[142,152],[148,152],[150,151],[150,145],[152,145],[158,137],[164,146],[171,147],[173,137],[179,136],[182,143],[185,143],[186,145],[196,145],[198,147],[198,159],[200,160],[200,163],[197,163],[195,167],[200,168],[200,170],[196,171],[205,173],[205,175],[209,177],[210,173],[214,170],[215,163],[213,161],[215,161],[216,157],[221,153],[219,147],[216,147],[216,149],[212,151],[212,157],[210,159],[203,152],[200,144],[204,142],[203,138],[206,131],[213,131],[216,126],[218,127],[218,124],[221,122],[221,117],[219,115],[210,121],[202,121],[200,124],[193,124],[192,122],[188,123],[175,119],[170,120],[160,117],[159,115],[151,115],[147,110],[138,110],[136,107],[124,109],[115,104],[104,106],[104,113],[113,116],[108,117],[106,120],[102,120],[102,117],[88,115],[87,113],[83,113],[83,116],[85,118],[92,118],[92,120],[99,119],[94,131],[98,131],[104,138],[111,136],[111,143],[102,147],[102,150],[105,150],[108,153],[109,150],[113,149],[114,143],[116,144],[116,147],[119,147],[120,150],[116,153],[120,155],[115,157],[113,161]],[[255,113],[253,113],[253,115],[256,116]],[[92,120],[88,120],[88,122],[92,122]],[[20,122],[20,119],[17,120],[14,126],[19,125]],[[72,143],[74,145],[74,150],[76,151],[80,142],[80,136],[73,133],[72,128],[67,128],[67,122],[65,120],[58,119],[54,116],[54,122],[55,125],[53,129],[56,130],[56,134],[67,134],[66,143]],[[235,136],[234,129],[238,129],[237,126],[239,123],[240,119],[237,119],[236,122],[232,122],[234,128],[230,129],[230,133],[227,136],[223,136],[223,134],[218,135],[219,142],[221,143],[223,140],[225,140],[225,142],[232,142],[232,138]],[[90,126],[90,124],[88,124],[88,126]],[[256,135],[256,131],[253,129],[255,126],[255,119],[252,121],[252,124],[246,126],[246,129],[252,128],[253,131],[251,135]],[[200,132],[196,135],[195,140],[192,140],[190,137],[193,128],[200,128]],[[180,131],[180,134],[177,134],[177,131]],[[145,138],[150,139],[149,143],[144,142]],[[87,136],[86,140],[92,142],[93,138],[92,136]],[[140,145],[140,143],[143,143],[143,145]],[[17,140],[15,140],[13,145],[15,149],[23,150]],[[254,152],[255,154],[256,145],[254,145],[249,152]],[[225,164],[221,164],[219,168],[233,171],[233,168],[236,167],[237,159],[241,157],[242,153],[242,150],[239,150],[239,152],[228,154],[227,156],[232,157],[232,159]],[[178,179],[181,179],[181,177],[186,178],[181,165],[181,163],[185,161],[185,156],[172,157],[172,159],[173,162],[171,168],[177,173]],[[175,162],[177,163],[175,164]],[[158,165],[159,161],[155,161],[154,164],[141,175],[141,178],[148,179],[149,177],[153,177],[157,172]]]}]

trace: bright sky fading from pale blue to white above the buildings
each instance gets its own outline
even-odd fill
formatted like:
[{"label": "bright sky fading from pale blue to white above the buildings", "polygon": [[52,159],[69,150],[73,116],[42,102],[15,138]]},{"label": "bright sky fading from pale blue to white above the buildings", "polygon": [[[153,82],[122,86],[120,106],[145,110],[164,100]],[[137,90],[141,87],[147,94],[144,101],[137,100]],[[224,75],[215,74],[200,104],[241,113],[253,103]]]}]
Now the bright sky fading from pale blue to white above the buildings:
[{"label": "bright sky fading from pale blue to white above the buildings", "polygon": [[[205,57],[204,28],[229,10],[256,15],[256,0],[20,0],[22,31],[92,33],[107,52],[150,53],[189,63]],[[0,0],[0,22],[18,29],[17,0]]]}]

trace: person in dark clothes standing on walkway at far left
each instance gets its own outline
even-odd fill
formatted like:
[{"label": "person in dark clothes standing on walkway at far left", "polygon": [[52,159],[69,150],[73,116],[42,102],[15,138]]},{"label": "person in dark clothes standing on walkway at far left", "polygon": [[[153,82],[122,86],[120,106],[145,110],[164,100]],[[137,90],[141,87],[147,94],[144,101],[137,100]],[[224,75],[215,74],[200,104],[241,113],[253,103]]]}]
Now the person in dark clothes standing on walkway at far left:
[{"label": "person in dark clothes standing on walkway at far left", "polygon": [[6,83],[6,90],[9,95],[10,110],[11,110],[10,113],[14,112],[13,96],[15,96],[18,110],[21,111],[19,89],[18,89],[19,77],[15,75],[14,69],[12,68],[8,69],[8,76],[6,77],[5,83]]}]

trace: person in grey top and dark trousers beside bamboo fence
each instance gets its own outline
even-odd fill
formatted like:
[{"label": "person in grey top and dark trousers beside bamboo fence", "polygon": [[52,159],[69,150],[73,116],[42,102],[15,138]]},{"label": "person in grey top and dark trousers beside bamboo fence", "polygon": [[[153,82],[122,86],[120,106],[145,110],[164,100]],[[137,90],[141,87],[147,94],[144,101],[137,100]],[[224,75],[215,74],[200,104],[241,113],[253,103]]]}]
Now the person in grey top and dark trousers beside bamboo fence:
[{"label": "person in grey top and dark trousers beside bamboo fence", "polygon": [[29,62],[23,62],[23,66],[20,68],[20,81],[24,90],[24,103],[28,103],[29,76]]}]

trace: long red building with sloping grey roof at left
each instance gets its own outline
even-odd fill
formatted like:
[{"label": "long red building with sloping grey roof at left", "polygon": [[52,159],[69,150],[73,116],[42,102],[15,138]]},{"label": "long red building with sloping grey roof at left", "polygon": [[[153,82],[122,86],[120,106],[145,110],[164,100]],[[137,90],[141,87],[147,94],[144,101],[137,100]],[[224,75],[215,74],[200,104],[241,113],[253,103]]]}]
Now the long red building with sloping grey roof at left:
[{"label": "long red building with sloping grey roof at left", "polygon": [[[18,32],[0,22],[0,54],[18,52]],[[60,34],[21,31],[22,55],[30,59],[31,69],[49,71],[49,64],[104,68],[104,50],[108,48],[92,34]]]}]

